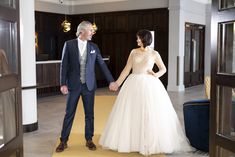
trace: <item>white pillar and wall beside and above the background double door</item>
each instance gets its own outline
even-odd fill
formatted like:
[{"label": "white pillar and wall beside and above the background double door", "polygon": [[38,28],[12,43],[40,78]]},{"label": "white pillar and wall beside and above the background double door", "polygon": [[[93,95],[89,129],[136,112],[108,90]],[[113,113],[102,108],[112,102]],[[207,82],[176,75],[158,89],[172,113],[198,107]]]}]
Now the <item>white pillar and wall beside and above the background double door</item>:
[{"label": "white pillar and wall beside and above the background double door", "polygon": [[[193,0],[169,0],[169,91],[184,91],[185,23],[206,25],[206,4]],[[208,66],[208,63],[207,65]]]}]

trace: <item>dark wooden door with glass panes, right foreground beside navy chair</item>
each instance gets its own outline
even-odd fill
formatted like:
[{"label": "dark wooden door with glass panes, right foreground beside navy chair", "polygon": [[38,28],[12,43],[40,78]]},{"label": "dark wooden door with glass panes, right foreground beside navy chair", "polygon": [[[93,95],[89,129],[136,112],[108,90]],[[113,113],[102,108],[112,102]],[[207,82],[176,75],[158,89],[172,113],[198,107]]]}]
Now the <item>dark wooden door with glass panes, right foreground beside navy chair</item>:
[{"label": "dark wooden door with glass panes, right foreground beside navy chair", "polygon": [[235,1],[213,0],[210,156],[235,157]]}]

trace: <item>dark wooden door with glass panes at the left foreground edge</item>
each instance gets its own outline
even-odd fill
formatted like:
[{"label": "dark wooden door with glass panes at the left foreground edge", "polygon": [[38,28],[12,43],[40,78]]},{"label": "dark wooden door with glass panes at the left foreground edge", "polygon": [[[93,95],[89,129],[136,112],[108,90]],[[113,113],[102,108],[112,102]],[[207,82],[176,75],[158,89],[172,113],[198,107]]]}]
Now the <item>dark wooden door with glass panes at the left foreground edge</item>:
[{"label": "dark wooden door with glass panes at the left foreground edge", "polygon": [[0,156],[22,157],[19,1],[0,2]]}]

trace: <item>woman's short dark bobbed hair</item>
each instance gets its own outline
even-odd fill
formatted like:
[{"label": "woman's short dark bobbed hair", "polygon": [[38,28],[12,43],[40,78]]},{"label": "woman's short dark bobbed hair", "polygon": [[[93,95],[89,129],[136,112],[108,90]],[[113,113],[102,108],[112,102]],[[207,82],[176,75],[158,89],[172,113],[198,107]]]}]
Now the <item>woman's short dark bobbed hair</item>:
[{"label": "woman's short dark bobbed hair", "polygon": [[152,34],[149,30],[147,29],[142,29],[142,30],[139,30],[137,33],[136,33],[136,36],[138,36],[140,38],[140,40],[142,41],[143,43],[143,46],[144,48],[146,46],[149,46],[152,42]]}]

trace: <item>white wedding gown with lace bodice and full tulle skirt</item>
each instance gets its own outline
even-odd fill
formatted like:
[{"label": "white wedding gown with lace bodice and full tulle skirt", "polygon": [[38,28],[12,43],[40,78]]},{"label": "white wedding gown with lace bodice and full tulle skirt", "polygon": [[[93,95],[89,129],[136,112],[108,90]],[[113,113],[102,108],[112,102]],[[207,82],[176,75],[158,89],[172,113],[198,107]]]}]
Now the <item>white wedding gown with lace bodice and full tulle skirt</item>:
[{"label": "white wedding gown with lace bodice and full tulle skirt", "polygon": [[132,50],[117,82],[130,69],[109,115],[99,144],[118,152],[143,155],[191,151],[171,100],[161,81],[147,74],[161,60],[158,52]]}]

